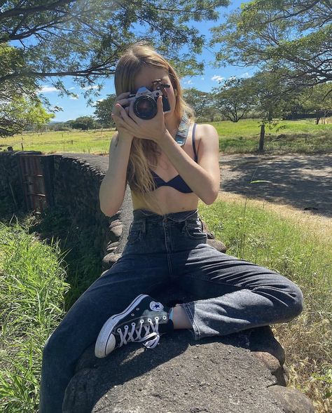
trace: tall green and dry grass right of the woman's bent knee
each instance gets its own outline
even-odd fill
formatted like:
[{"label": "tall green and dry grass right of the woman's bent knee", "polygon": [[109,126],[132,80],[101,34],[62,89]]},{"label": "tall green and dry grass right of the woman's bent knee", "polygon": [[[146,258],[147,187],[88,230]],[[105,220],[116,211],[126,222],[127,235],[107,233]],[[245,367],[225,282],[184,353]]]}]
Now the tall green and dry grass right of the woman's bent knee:
[{"label": "tall green and dry grass right of the woman's bent knee", "polygon": [[200,215],[227,253],[281,273],[303,291],[304,310],[274,326],[286,351],[291,386],[317,413],[332,411],[332,239],[324,231],[251,205],[248,199],[200,203]]}]

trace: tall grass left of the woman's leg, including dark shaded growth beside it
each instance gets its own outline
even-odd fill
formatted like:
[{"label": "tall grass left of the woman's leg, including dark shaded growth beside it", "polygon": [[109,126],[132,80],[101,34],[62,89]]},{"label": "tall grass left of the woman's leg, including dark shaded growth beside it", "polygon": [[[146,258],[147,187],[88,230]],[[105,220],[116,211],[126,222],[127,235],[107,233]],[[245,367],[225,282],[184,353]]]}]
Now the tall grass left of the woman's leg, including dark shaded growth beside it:
[{"label": "tall grass left of the woman's leg, including dark shaded growth beside it", "polygon": [[[61,211],[0,221],[0,412],[35,413],[43,345],[102,273],[91,231]],[[56,241],[55,241],[56,240]]]}]

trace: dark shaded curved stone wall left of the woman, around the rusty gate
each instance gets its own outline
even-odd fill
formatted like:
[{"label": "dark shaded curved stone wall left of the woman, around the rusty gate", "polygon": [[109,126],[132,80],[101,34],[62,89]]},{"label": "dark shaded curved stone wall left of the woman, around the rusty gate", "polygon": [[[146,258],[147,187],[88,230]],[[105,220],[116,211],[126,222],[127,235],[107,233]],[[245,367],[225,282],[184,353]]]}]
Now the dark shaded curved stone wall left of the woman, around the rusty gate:
[{"label": "dark shaded curved stone wall left of the woman, around the rusty gate", "polygon": [[[20,155],[41,155],[39,151],[0,152],[0,215],[27,211],[20,176]],[[99,206],[99,187],[108,168],[108,157],[83,154],[42,155],[47,203],[50,209],[62,211],[79,228],[91,234],[91,247],[100,253],[103,269],[113,263],[104,259],[116,252],[122,233],[113,231],[120,211],[106,217]],[[130,223],[129,223],[130,224]]]}]

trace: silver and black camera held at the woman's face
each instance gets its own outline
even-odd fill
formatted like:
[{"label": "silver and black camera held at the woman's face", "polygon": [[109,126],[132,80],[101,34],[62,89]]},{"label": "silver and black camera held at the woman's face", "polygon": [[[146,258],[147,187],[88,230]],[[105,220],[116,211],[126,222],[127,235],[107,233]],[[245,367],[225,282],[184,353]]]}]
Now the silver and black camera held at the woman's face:
[{"label": "silver and black camera held at the woman's face", "polygon": [[136,94],[130,94],[127,99],[131,103],[134,100],[134,114],[141,119],[152,119],[157,114],[157,100],[162,96],[162,107],[164,113],[170,111],[170,102],[165,92],[165,88],[170,88],[168,83],[161,83],[160,79],[153,81],[157,83],[155,90],[148,90],[145,86],[141,86]]}]

